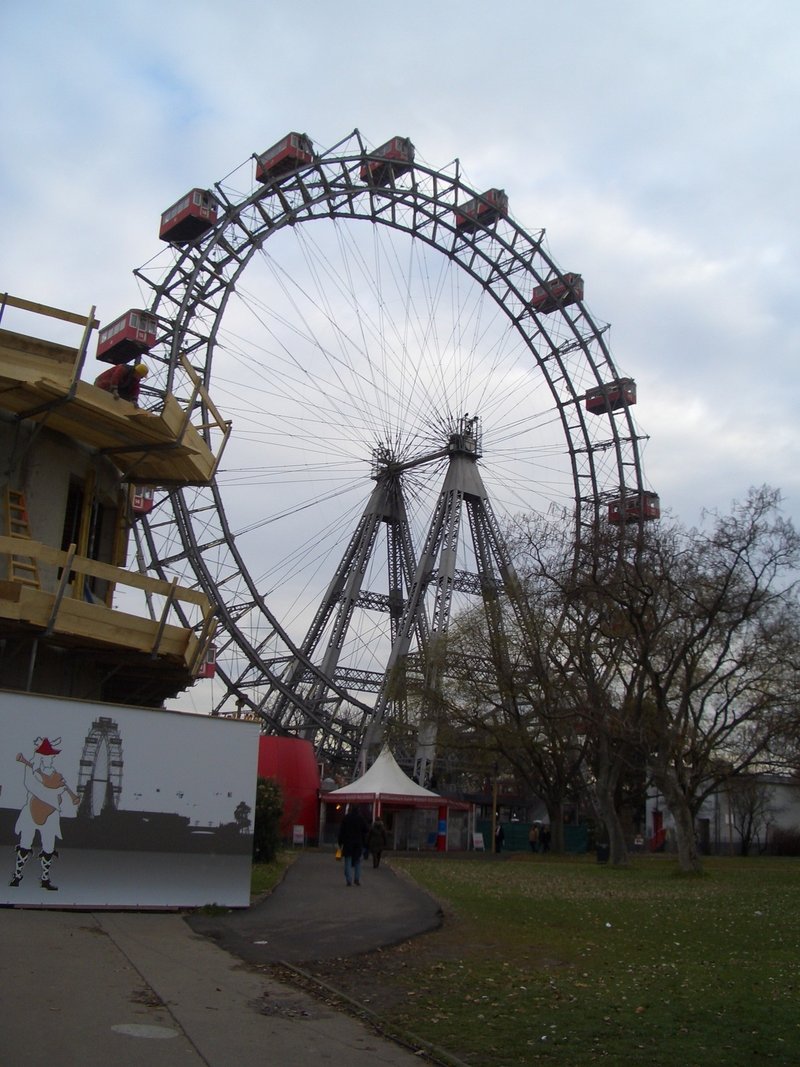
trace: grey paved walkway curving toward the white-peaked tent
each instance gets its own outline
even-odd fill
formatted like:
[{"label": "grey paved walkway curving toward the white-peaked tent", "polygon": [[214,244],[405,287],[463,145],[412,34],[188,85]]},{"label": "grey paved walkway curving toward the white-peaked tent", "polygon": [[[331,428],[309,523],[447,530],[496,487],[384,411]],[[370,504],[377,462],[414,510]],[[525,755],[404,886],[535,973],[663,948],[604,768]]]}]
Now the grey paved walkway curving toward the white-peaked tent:
[{"label": "grey paved walkway curving toward the white-peaked tent", "polygon": [[377,949],[439,922],[387,866],[345,887],[304,851],[257,906],[212,918],[0,910],[0,1062],[10,1067],[411,1067],[357,1020],[249,969]]}]

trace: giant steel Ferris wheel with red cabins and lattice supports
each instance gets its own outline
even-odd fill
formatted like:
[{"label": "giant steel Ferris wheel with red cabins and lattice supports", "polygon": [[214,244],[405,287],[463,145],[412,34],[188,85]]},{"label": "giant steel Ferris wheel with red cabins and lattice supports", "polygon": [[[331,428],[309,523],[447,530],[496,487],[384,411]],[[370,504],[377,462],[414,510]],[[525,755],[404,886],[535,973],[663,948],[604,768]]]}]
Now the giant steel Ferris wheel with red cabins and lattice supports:
[{"label": "giant steel Ferris wheel with red cabins and lattice supports", "polygon": [[583,278],[458,161],[290,133],[192,190],[160,236],[135,272],[149,402],[211,396],[234,430],[210,484],[157,491],[139,552],[215,607],[215,714],[352,765],[393,714],[398,662],[512,585],[514,515],[558,509],[576,536],[657,516],[636,385]]}]

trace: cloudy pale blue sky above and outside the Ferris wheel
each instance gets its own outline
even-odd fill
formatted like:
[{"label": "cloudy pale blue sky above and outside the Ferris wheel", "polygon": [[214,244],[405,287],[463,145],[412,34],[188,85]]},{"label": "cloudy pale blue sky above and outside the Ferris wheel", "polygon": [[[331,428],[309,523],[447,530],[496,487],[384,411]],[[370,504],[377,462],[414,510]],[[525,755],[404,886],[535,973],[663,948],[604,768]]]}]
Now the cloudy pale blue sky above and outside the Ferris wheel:
[{"label": "cloudy pale blue sky above and outside the Ferris wheel", "polygon": [[6,0],[0,290],[107,323],[192,186],[290,129],[402,133],[582,273],[662,508],[768,482],[798,520],[799,31],[797,0]]}]

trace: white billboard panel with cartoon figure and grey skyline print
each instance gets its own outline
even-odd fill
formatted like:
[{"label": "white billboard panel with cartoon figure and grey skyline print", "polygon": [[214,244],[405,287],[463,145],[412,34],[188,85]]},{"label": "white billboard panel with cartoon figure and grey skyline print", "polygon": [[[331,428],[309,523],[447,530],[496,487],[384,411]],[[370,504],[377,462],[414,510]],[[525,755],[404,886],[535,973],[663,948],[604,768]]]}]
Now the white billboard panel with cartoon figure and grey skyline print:
[{"label": "white billboard panel with cartoon figure and grey skyline print", "polygon": [[259,732],[0,692],[0,904],[246,907]]}]

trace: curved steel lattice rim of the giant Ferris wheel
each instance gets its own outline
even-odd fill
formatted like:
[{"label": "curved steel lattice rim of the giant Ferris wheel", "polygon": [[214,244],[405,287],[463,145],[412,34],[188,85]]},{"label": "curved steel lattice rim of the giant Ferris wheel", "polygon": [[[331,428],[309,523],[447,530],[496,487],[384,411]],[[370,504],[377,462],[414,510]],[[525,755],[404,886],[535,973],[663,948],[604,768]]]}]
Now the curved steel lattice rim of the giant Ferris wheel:
[{"label": "curved steel lattice rim of the giant Ferris wheel", "polygon": [[[368,150],[355,131],[313,163],[239,198],[218,186],[223,210],[210,233],[173,250],[174,261],[160,280],[150,277],[147,267],[137,271],[154,292],[150,309],[162,328],[158,349],[151,352],[157,388],[174,393],[179,401],[189,395],[181,369],[183,356],[213,395],[218,335],[229,299],[253,256],[271,237],[286,227],[320,220],[373,223],[425,242],[463,270],[494,300],[530,351],[560,419],[572,471],[576,531],[594,525],[611,498],[642,492],[641,439],[629,408],[608,413],[602,421],[610,431],[605,436],[598,432],[597,420],[582,409],[588,386],[619,378],[605,341],[606,328],[595,324],[582,301],[551,316],[531,310],[532,289],[563,276],[543,246],[544,232],[530,236],[511,219],[499,218],[479,225],[471,234],[459,234],[455,208],[481,194],[462,182],[458,163],[452,173],[415,163],[397,181],[375,188],[359,177]],[[574,381],[570,368],[576,357],[582,361],[582,381]],[[207,431],[212,447],[213,433]],[[207,526],[198,522],[201,511],[211,513],[214,523]],[[206,529],[213,529],[215,536],[204,540]],[[282,691],[283,679],[279,669],[262,654],[265,641],[259,648],[250,638],[246,616],[258,614],[258,632],[270,631],[272,639],[282,642],[287,658],[298,656],[299,651],[252,579],[228,526],[217,479],[207,490],[173,490],[160,513],[145,521],[144,539],[153,569],[164,574],[181,561],[191,567],[197,584],[218,608],[222,640],[235,647],[243,662],[237,674],[222,669],[226,689],[219,704],[231,710],[237,702],[240,707],[257,711],[268,728],[279,731],[283,723],[270,721],[263,699],[252,699],[251,683],[256,674],[266,679],[268,691],[270,687]],[[211,560],[214,552],[222,554],[222,562]],[[249,600],[228,596],[231,575],[243,583]],[[311,663],[307,667],[313,673],[318,670]],[[367,703],[341,686],[332,684],[331,688],[356,718],[368,717]],[[320,726],[332,728],[330,722]]]}]

